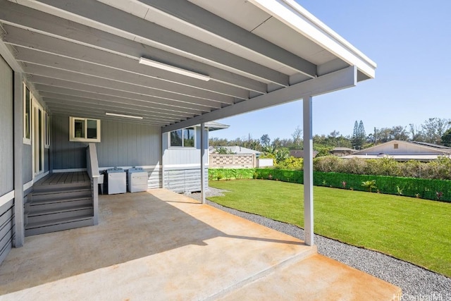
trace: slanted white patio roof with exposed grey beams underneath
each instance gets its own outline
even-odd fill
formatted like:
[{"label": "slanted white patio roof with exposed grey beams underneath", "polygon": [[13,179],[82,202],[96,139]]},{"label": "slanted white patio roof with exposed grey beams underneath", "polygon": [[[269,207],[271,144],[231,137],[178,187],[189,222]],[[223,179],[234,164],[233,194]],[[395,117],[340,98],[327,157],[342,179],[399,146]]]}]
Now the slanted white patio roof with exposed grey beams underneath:
[{"label": "slanted white patio roof with exposed grey beams underneath", "polygon": [[51,113],[142,116],[124,121],[163,132],[353,87],[376,68],[292,0],[0,0],[0,8],[0,54]]}]

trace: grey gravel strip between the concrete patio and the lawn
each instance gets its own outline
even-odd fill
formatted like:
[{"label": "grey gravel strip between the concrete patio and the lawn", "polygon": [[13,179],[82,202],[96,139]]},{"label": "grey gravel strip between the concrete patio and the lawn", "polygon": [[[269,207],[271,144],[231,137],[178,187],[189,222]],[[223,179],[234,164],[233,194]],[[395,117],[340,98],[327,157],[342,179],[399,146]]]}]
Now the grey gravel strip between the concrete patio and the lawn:
[{"label": "grey gravel strip between the concrete patio and the lawn", "polygon": [[[206,191],[206,197],[223,196],[222,192],[225,191],[209,188]],[[200,200],[199,193],[193,193],[189,196],[193,199]],[[297,226],[223,207],[208,199],[206,202],[212,207],[235,214],[249,221],[254,221],[254,223],[273,228],[274,230],[301,240],[304,239],[304,230]],[[395,259],[380,252],[347,245],[321,235],[314,235],[314,240],[319,254],[323,254],[402,288],[403,295],[400,300],[451,300],[451,278],[428,271],[414,264],[403,262],[400,259]]]}]

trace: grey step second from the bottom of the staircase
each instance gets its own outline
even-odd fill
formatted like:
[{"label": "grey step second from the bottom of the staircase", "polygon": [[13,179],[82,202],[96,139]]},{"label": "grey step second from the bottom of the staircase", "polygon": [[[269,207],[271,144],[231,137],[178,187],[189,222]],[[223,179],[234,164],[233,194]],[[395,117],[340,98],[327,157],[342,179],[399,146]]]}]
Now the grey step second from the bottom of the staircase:
[{"label": "grey step second from the bottom of the staircase", "polygon": [[61,219],[73,219],[79,216],[94,216],[94,208],[91,206],[75,206],[65,209],[50,209],[44,211],[32,211],[27,214],[27,224],[45,221],[59,221]]}]

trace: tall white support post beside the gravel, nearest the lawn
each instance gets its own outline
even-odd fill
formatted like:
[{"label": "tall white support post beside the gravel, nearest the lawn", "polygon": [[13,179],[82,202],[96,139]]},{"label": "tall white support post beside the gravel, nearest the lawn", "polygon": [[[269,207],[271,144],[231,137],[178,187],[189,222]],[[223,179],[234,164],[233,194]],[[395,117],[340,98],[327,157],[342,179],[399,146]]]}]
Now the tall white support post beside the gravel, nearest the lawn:
[{"label": "tall white support post beside the gravel, nearest the lawn", "polygon": [[304,113],[304,242],[314,245],[313,232],[313,135],[311,97],[303,99]]}]

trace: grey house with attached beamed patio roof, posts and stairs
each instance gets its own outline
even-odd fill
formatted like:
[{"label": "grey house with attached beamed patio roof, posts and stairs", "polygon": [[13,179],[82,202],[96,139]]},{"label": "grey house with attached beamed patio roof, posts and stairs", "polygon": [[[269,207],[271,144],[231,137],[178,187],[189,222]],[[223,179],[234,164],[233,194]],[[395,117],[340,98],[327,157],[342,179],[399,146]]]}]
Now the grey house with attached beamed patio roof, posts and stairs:
[{"label": "grey house with attached beamed patio roof, posts and stairs", "polygon": [[[204,190],[208,122],[303,99],[310,141],[312,97],[375,76],[295,1],[211,3],[0,0],[0,262],[26,231],[96,224],[99,168],[141,166],[148,188]],[[47,175],[56,186],[38,187]],[[32,221],[52,193],[78,205]],[[304,207],[311,245],[311,197]]]}]

